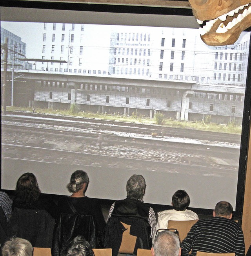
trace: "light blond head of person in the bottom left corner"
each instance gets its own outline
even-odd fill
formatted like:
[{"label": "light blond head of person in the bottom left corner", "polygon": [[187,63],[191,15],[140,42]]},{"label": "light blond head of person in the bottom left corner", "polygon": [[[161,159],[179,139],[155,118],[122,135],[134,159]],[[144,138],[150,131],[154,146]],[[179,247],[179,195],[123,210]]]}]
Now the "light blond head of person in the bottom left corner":
[{"label": "light blond head of person in the bottom left corner", "polygon": [[33,247],[26,239],[11,238],[4,244],[2,256],[33,256]]}]

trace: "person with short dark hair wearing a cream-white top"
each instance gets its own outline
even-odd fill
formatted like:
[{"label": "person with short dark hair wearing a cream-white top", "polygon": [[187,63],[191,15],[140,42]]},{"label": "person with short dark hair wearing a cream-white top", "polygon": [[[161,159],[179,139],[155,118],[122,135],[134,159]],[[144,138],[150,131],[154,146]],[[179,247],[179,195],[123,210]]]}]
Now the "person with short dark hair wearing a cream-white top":
[{"label": "person with short dark hair wearing a cream-white top", "polygon": [[190,197],[185,190],[177,190],[172,197],[172,210],[158,212],[158,223],[156,230],[159,228],[167,228],[168,221],[189,221],[199,219],[198,215],[187,210],[190,204]]}]

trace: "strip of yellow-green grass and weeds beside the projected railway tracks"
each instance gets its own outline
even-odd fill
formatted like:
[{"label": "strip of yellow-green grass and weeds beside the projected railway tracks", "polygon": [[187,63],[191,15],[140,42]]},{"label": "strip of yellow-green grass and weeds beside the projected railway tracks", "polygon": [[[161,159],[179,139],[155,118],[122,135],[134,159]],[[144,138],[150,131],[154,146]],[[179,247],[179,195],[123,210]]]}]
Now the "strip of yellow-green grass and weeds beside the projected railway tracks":
[{"label": "strip of yellow-green grass and weeds beside the projected railway tracks", "polygon": [[[7,111],[24,111],[24,112],[32,113],[33,109],[28,107],[7,107]],[[34,112],[41,113],[41,114],[56,114],[56,115],[62,115],[62,116],[79,116],[79,117],[85,117],[85,118],[114,120],[119,122],[145,123],[145,124],[153,124],[153,125],[156,124],[155,118],[146,118],[143,115],[136,116],[136,114],[134,114],[133,116],[124,116],[122,113],[115,113],[115,114],[96,113],[95,114],[95,113],[84,112],[84,111],[79,111],[73,114],[71,109],[56,110],[56,109],[41,109],[41,108],[36,108]],[[160,112],[160,114],[162,113]],[[228,124],[218,124],[218,123],[212,123],[212,122],[207,123],[206,120],[204,121],[195,120],[192,122],[192,121],[178,121],[178,120],[173,120],[171,118],[163,117],[161,125],[166,127],[177,127],[177,128],[195,129],[195,130],[211,131],[211,132],[219,132],[219,133],[233,133],[233,134],[241,134],[241,130],[242,130],[241,125],[238,125],[235,122],[235,120],[233,120],[232,122],[229,122]]]}]

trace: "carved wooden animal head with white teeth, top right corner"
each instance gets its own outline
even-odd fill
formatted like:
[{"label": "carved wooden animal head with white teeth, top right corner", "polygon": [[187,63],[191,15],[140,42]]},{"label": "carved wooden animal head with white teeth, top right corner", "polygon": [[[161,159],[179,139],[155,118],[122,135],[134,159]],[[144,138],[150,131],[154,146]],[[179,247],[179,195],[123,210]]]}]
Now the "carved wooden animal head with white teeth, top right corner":
[{"label": "carved wooden animal head with white teeth, top right corner", "polygon": [[220,46],[236,42],[240,33],[251,27],[250,0],[189,0],[207,45]]}]

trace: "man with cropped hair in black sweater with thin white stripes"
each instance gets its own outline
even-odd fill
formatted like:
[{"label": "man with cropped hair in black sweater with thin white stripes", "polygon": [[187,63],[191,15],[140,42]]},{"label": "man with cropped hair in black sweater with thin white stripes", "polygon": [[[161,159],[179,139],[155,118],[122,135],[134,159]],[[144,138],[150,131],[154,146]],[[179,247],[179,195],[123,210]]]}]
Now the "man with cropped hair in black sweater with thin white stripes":
[{"label": "man with cropped hair in black sweater with thin white stripes", "polygon": [[235,252],[235,256],[245,255],[244,237],[241,227],[232,221],[233,207],[220,201],[213,211],[213,218],[197,221],[182,241],[182,256],[196,256],[197,251],[211,253]]}]

